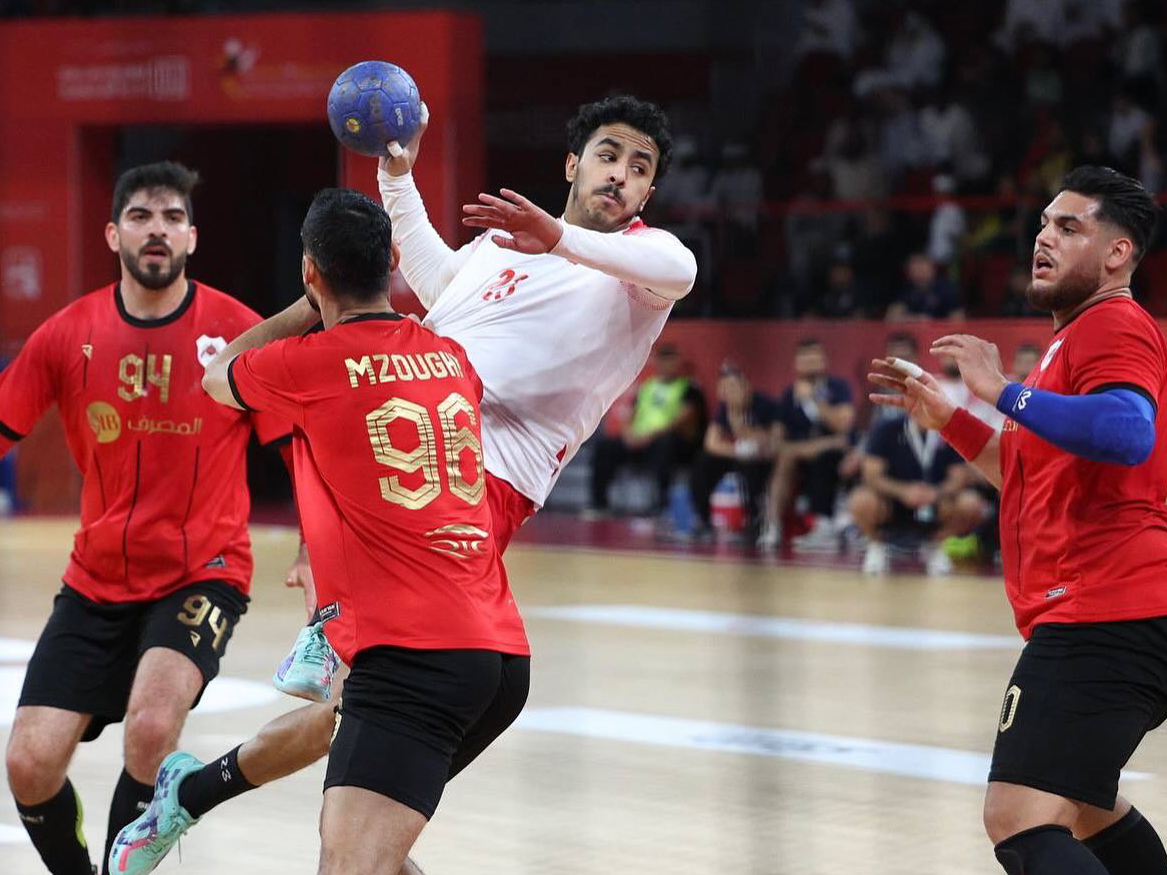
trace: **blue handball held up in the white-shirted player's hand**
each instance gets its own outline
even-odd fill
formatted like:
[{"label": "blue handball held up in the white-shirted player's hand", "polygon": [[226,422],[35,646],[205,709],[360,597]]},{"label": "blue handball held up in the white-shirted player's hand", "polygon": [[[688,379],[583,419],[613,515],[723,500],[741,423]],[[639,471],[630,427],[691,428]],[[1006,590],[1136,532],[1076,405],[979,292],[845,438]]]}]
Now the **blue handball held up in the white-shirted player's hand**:
[{"label": "blue handball held up in the white-shirted player's hand", "polygon": [[396,64],[362,61],[336,77],[328,92],[328,124],[347,148],[379,158],[385,144],[403,146],[421,125],[421,96]]}]

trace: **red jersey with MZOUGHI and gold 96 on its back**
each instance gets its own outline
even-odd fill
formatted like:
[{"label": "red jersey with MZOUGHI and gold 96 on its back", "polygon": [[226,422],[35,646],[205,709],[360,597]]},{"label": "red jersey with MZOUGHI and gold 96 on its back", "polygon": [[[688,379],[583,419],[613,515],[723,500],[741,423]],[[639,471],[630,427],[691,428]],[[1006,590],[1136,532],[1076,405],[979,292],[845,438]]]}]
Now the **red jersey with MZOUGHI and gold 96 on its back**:
[{"label": "red jersey with MZOUGHI and gold 96 on its back", "polygon": [[292,420],[296,499],[324,631],[378,644],[530,653],[491,534],[482,383],[413,320],[356,316],[238,356],[245,407]]}]

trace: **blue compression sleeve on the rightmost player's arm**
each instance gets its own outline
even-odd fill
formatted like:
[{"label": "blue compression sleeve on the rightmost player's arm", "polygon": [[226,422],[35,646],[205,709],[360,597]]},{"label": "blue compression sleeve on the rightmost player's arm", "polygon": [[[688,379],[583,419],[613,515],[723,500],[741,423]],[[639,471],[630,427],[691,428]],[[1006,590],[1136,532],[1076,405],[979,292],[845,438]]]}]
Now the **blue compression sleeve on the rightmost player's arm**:
[{"label": "blue compression sleeve on the rightmost player's arm", "polygon": [[1063,396],[1011,383],[997,410],[1044,441],[1091,462],[1135,466],[1155,448],[1155,407],[1138,386]]}]

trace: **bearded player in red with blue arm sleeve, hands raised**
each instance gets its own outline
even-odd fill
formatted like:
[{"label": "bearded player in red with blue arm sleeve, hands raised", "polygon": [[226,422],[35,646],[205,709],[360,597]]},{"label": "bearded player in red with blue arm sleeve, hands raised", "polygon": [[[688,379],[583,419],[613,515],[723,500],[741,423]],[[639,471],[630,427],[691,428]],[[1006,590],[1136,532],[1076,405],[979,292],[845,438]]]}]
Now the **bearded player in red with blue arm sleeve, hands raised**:
[{"label": "bearded player in red with blue arm sleeve, hands raised", "polygon": [[1155,230],[1137,181],[1079,167],[1041,216],[1029,301],[1054,336],[1023,383],[997,348],[936,341],[1008,419],[998,436],[936,382],[876,362],[872,396],[941,434],[1001,492],[1005,589],[1026,646],[1005,693],[985,828],[1009,875],[1160,875],[1119,772],[1167,716],[1167,342],[1131,296]]}]

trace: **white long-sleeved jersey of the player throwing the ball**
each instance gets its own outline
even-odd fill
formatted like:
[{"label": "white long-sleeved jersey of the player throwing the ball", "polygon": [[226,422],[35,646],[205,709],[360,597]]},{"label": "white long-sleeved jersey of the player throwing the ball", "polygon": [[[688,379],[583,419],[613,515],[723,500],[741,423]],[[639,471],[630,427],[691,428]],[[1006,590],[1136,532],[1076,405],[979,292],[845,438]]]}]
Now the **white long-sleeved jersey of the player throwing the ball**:
[{"label": "white long-sleeved jersey of the player throwing the ball", "polygon": [[614,233],[564,223],[541,256],[496,246],[499,231],[454,251],[411,176],[378,181],[425,323],[462,344],[482,379],[485,468],[539,506],[643,369],[696,259],[640,220]]}]

